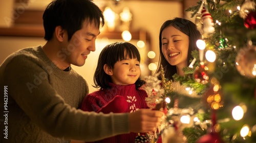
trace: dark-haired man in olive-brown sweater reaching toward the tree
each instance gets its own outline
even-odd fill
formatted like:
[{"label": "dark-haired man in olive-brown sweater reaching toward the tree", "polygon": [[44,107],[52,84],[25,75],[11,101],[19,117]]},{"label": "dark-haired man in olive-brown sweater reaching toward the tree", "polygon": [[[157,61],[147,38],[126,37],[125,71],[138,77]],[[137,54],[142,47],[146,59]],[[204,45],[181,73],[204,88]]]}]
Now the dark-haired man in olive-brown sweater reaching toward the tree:
[{"label": "dark-haired man in olive-brown sweater reaching toward the tree", "polygon": [[13,53],[0,66],[2,142],[94,141],[157,127],[160,111],[97,114],[77,109],[89,89],[70,65],[82,66],[95,51],[104,18],[94,3],[56,0],[43,19],[47,43]]}]

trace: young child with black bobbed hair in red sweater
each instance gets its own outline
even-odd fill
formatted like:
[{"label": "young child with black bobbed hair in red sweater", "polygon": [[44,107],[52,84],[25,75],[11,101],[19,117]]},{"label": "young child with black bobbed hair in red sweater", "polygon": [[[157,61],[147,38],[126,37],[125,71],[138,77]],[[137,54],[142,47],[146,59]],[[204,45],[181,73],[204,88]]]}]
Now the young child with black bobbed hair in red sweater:
[{"label": "young child with black bobbed hair in red sweater", "polygon": [[[81,109],[122,113],[148,108],[145,102],[147,94],[140,89],[144,84],[140,73],[140,54],[136,46],[129,42],[106,45],[99,55],[94,74],[95,87],[100,90],[88,94]],[[131,132],[96,142],[134,142],[137,135]]]}]

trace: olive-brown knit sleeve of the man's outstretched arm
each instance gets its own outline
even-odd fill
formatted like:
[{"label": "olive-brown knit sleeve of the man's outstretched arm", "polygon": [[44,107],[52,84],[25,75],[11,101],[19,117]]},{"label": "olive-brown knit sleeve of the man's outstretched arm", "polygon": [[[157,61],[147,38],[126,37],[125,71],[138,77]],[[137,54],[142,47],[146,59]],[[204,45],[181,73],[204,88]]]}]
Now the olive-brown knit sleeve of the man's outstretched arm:
[{"label": "olive-brown knit sleeve of the man's outstretched arm", "polygon": [[[66,104],[50,84],[51,75],[35,60],[16,56],[1,66],[0,85],[8,86],[9,105],[17,104],[15,108],[20,107],[33,123],[55,137],[93,141],[129,133],[128,114],[83,112]],[[11,113],[8,117],[15,122]]]}]

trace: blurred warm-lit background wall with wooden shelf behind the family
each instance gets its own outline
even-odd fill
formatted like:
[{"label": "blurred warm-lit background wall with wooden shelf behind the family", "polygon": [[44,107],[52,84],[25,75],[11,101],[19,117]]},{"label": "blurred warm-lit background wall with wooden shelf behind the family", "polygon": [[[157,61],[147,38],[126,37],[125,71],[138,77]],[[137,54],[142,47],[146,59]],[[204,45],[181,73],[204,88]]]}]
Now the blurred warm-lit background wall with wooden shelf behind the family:
[{"label": "blurred warm-lit background wall with wooden shelf behind the family", "polygon": [[[9,0],[0,1],[0,63],[11,53],[29,46],[44,45],[44,29],[42,27],[42,13],[50,0]],[[131,33],[131,43],[137,47],[138,41],[143,41],[144,46],[138,47],[142,61],[142,75],[155,73],[159,57],[158,36],[162,23],[174,17],[190,18],[190,13],[185,9],[196,4],[198,0],[94,0],[102,11],[109,7],[115,13],[115,27],[106,24],[101,29],[101,34],[96,41],[96,51],[91,53],[82,67],[72,66],[87,80],[90,92],[93,88],[93,73],[97,58],[102,48],[115,41],[124,41],[122,31]],[[131,19],[127,23],[120,20],[124,8],[129,8]],[[153,57],[148,57],[148,52],[153,51]],[[155,57],[154,57],[155,53]],[[152,52],[151,52],[152,54]],[[151,64],[152,63],[152,64]],[[149,69],[151,65],[151,70]]]}]

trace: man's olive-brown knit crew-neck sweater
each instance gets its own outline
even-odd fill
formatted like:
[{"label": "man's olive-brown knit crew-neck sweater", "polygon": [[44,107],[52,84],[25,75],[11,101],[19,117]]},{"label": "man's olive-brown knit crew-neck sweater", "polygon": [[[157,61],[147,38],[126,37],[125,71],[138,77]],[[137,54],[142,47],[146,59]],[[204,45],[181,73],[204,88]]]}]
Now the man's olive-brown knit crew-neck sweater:
[{"label": "man's olive-brown knit crew-neck sweater", "polygon": [[127,113],[77,109],[89,92],[87,82],[72,68],[59,69],[41,45],[10,55],[0,66],[0,79],[2,142],[93,141],[129,133]]}]

